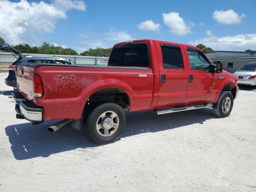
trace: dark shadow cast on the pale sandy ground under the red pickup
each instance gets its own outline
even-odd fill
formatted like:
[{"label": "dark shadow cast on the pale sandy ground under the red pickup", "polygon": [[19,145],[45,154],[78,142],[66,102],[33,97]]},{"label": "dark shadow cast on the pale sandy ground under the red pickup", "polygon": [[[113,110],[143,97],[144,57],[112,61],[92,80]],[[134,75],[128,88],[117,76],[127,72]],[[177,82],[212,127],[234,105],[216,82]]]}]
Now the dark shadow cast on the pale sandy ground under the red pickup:
[{"label": "dark shadow cast on the pale sandy ground under the red pickup", "polygon": [[[184,121],[185,117],[185,121]],[[157,116],[154,112],[132,112],[126,114],[126,130],[122,138],[141,133],[158,132],[191,124],[203,124],[206,120],[217,118],[209,108],[165,114]],[[48,157],[76,148],[94,148],[97,144],[88,140],[82,132],[71,127],[70,123],[55,133],[48,132],[48,126],[58,121],[44,122],[32,126],[31,123],[16,124],[5,128],[9,137],[12,153],[17,160]]]}]

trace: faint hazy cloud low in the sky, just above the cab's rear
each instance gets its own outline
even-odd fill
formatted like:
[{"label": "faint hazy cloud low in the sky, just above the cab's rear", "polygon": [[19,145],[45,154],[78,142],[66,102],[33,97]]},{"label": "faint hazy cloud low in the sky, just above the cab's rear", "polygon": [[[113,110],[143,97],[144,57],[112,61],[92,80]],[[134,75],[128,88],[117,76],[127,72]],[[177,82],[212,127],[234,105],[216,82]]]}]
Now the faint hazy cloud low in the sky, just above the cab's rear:
[{"label": "faint hazy cloud low in the sky, just above the cab's rear", "polygon": [[117,31],[114,29],[110,29],[108,33],[106,33],[108,37],[104,38],[105,40],[111,42],[124,42],[132,40],[133,37],[125,31]]}]

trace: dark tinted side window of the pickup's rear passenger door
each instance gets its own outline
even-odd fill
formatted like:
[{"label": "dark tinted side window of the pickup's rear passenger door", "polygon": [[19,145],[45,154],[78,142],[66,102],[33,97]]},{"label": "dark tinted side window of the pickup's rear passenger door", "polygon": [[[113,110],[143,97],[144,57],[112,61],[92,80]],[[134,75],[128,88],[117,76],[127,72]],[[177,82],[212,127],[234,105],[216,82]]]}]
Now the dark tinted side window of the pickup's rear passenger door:
[{"label": "dark tinted side window of the pickup's rear passenger door", "polygon": [[162,46],[163,67],[165,69],[183,69],[180,47]]}]

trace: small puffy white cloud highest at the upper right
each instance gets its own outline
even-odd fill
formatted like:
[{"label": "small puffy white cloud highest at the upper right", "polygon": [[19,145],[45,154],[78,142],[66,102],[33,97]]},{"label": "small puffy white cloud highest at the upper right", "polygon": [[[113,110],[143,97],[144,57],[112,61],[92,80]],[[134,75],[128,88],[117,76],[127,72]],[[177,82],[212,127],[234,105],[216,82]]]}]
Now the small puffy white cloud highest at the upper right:
[{"label": "small puffy white cloud highest at the upper right", "polygon": [[212,14],[212,18],[220,24],[239,24],[242,21],[242,18],[246,17],[246,14],[239,15],[234,12],[234,10],[215,10]]}]

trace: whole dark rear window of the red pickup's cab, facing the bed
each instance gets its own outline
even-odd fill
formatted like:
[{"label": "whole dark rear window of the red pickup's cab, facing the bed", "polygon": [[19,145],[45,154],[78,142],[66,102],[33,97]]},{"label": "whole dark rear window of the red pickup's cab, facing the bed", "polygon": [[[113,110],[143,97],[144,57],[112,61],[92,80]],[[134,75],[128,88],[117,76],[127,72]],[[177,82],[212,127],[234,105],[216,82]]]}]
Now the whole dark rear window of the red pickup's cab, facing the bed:
[{"label": "whole dark rear window of the red pickup's cab, facing the bed", "polygon": [[113,48],[109,66],[141,66],[149,65],[148,44],[146,42],[130,43]]}]

